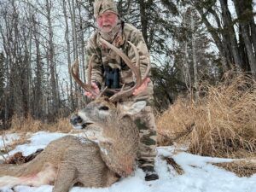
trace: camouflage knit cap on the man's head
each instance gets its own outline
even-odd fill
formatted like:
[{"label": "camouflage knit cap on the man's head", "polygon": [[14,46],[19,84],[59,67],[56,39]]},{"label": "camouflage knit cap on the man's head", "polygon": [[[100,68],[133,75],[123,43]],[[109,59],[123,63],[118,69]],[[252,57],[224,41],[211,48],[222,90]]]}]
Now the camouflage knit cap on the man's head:
[{"label": "camouflage knit cap on the man's head", "polygon": [[94,2],[94,17],[97,18],[99,15],[103,14],[105,11],[113,12],[119,15],[116,4],[113,0],[95,0]]}]

